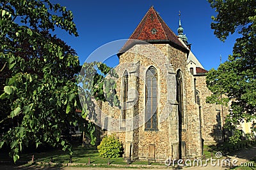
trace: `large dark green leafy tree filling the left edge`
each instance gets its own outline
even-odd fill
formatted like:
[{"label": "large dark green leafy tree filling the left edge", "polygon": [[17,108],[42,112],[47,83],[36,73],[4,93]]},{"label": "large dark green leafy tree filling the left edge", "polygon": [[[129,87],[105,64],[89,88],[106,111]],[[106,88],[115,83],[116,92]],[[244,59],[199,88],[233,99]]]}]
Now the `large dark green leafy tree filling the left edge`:
[{"label": "large dark green leafy tree filling the left edge", "polygon": [[69,149],[61,138],[76,124],[79,105],[76,52],[52,36],[57,27],[77,36],[72,12],[46,1],[0,1],[0,147],[14,162],[24,146],[47,143]]}]

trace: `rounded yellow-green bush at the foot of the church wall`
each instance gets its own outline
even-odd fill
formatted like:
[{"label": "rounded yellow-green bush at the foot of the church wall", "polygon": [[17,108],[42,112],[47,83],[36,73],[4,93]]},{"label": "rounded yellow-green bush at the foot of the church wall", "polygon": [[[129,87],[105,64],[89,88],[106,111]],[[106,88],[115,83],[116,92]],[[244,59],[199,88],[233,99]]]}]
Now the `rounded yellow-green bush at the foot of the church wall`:
[{"label": "rounded yellow-green bush at the foot of the church wall", "polygon": [[105,136],[97,148],[99,155],[104,158],[117,158],[120,157],[123,152],[122,143],[114,134]]}]

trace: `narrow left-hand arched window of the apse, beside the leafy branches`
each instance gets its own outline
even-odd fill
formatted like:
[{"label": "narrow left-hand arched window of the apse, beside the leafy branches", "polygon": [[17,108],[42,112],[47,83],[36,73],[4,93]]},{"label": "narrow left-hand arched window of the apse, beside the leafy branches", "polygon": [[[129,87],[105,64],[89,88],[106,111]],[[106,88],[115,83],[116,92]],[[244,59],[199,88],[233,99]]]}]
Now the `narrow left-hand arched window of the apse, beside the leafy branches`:
[{"label": "narrow left-hand arched window of the apse, beside the leafy branches", "polygon": [[125,70],[124,77],[123,77],[122,120],[126,119],[127,99],[128,99],[128,72]]}]

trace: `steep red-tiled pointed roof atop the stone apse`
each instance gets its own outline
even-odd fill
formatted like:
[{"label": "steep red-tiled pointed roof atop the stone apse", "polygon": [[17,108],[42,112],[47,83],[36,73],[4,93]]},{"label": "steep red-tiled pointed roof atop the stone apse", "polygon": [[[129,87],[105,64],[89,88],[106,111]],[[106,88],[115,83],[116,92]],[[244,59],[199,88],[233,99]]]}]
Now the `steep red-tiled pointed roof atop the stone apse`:
[{"label": "steep red-tiled pointed roof atop the stone apse", "polygon": [[[156,34],[152,34],[152,29],[157,30]],[[130,39],[149,42],[167,41],[172,45],[187,49],[186,46],[179,41],[177,35],[166,25],[153,6],[149,8],[140,24],[130,36]]]}]

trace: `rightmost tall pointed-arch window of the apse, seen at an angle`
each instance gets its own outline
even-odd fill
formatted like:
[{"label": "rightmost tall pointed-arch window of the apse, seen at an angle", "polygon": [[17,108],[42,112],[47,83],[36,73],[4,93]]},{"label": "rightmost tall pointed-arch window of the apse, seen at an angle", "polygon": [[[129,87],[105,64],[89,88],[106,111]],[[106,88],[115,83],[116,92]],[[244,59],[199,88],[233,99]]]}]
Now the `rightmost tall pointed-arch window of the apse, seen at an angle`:
[{"label": "rightmost tall pointed-arch window of the apse, seen at an angle", "polygon": [[176,78],[177,78],[177,102],[179,103],[179,106],[178,106],[179,121],[180,121],[180,124],[184,124],[183,85],[182,85],[182,74],[180,70],[177,72]]}]

